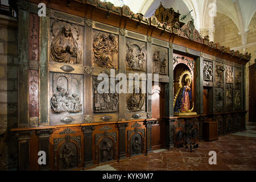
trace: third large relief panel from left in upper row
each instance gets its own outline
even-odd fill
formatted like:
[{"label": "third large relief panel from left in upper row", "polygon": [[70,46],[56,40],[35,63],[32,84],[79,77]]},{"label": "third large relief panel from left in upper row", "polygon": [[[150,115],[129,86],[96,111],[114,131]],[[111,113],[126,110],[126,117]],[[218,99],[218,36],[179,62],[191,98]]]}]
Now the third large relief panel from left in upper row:
[{"label": "third large relief panel from left in upper row", "polygon": [[146,71],[146,43],[126,38],[126,68]]}]

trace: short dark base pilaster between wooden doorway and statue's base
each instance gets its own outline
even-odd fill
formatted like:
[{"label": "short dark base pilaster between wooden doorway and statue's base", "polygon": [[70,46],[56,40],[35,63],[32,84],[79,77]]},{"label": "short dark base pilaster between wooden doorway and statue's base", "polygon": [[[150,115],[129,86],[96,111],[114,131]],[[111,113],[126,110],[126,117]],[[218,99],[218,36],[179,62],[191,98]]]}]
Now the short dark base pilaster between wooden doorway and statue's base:
[{"label": "short dark base pilaster between wooden doorway and statue's base", "polygon": [[164,119],[164,129],[164,148],[171,150],[174,148],[174,119]]}]

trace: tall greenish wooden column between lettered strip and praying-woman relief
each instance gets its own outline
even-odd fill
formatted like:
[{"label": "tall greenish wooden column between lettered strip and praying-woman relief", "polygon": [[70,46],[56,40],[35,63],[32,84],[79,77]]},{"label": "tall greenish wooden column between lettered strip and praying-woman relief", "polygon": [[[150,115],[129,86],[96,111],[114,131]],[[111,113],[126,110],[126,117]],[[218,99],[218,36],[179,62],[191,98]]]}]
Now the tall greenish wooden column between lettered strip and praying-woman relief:
[{"label": "tall greenish wooden column between lettered strip and praying-woman relief", "polygon": [[48,118],[48,38],[49,14],[40,17],[40,126],[49,125]]}]

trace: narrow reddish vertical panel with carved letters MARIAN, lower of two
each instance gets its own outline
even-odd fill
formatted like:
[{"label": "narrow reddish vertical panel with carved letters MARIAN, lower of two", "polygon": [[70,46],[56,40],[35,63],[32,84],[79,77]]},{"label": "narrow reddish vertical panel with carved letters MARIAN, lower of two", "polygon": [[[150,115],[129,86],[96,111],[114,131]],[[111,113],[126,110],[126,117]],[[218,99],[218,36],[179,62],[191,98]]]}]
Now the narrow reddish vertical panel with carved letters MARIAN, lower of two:
[{"label": "narrow reddish vertical panel with carved letters MARIAN, lower of two", "polygon": [[29,71],[29,117],[30,126],[39,125],[38,71]]}]

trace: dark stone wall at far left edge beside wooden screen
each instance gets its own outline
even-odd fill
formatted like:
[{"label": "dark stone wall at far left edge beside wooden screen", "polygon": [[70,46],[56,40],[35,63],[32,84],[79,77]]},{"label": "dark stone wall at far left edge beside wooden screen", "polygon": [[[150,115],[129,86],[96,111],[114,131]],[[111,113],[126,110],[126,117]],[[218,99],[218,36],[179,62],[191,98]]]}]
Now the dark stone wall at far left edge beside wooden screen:
[{"label": "dark stone wall at far left edge beside wooden screen", "polygon": [[0,15],[0,170],[16,168],[17,21]]}]

